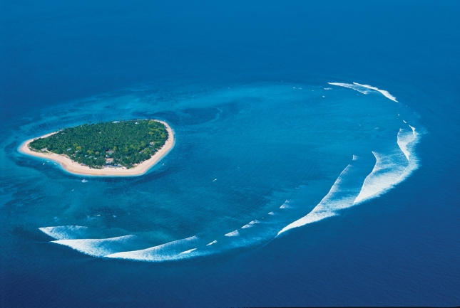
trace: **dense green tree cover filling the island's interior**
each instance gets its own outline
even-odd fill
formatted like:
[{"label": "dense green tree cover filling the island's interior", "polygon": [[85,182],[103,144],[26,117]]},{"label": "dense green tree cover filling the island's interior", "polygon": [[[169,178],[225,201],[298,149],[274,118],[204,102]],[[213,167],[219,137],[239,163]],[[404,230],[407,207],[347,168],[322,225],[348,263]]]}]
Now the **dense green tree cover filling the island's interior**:
[{"label": "dense green tree cover filling the island's interior", "polygon": [[129,169],[149,159],[166,139],[168,131],[163,123],[129,120],[68,127],[34,140],[29,147],[36,152],[65,154],[90,168],[112,165]]}]

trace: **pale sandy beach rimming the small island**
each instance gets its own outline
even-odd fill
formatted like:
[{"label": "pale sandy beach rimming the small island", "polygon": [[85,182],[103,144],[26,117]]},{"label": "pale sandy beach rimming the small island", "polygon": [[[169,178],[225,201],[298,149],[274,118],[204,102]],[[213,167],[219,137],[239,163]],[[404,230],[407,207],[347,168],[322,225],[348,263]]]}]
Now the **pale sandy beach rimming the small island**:
[{"label": "pale sandy beach rimming the small island", "polygon": [[51,136],[52,134],[56,134],[56,132],[51,132],[50,134],[45,134],[41,137],[26,140],[19,147],[19,152],[30,156],[36,156],[52,160],[58,164],[61,164],[62,168],[71,174],[78,174],[83,176],[140,176],[145,174],[145,172],[147,172],[148,169],[150,169],[150,167],[157,164],[158,161],[160,161],[160,159],[162,159],[166,154],[168,154],[170,150],[174,147],[175,139],[173,129],[171,129],[168,123],[166,122],[159,120],[155,121],[165,124],[166,130],[168,131],[168,139],[166,139],[166,142],[163,145],[163,147],[161,147],[161,149],[159,149],[158,152],[153,154],[153,156],[151,156],[150,159],[142,161],[140,164],[134,166],[131,169],[126,169],[126,167],[103,167],[103,169],[93,169],[89,168],[88,166],[82,166],[81,164],[69,159],[67,156],[64,156],[62,154],[39,153],[29,149],[29,144],[33,142],[35,139],[46,138],[48,136]]}]

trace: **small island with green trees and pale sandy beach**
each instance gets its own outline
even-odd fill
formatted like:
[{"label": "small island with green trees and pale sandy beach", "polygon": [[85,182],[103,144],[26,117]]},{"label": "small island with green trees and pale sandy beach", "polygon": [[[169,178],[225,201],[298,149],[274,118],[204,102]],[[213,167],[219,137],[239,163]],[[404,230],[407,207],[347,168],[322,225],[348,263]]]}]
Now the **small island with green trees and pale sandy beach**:
[{"label": "small island with green trees and pale sandy beach", "polygon": [[19,151],[61,164],[73,174],[136,176],[168,154],[173,130],[159,120],[111,121],[59,129],[29,139]]}]

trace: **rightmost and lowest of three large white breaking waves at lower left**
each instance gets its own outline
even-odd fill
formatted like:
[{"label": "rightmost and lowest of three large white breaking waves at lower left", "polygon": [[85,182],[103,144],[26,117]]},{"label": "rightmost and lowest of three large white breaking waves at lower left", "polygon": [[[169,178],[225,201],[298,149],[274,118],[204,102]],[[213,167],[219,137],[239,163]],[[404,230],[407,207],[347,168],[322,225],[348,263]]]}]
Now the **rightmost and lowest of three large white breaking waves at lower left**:
[{"label": "rightmost and lowest of three large white breaking waves at lower left", "polygon": [[170,243],[165,243],[163,245],[158,245],[147,249],[125,251],[122,253],[113,253],[111,255],[106,255],[105,257],[151,262],[174,260],[178,255],[180,255],[180,253],[185,253],[187,251],[188,253],[186,253],[185,255],[193,253],[193,248],[196,249],[197,243],[198,237],[192,236],[190,238],[175,240]]}]

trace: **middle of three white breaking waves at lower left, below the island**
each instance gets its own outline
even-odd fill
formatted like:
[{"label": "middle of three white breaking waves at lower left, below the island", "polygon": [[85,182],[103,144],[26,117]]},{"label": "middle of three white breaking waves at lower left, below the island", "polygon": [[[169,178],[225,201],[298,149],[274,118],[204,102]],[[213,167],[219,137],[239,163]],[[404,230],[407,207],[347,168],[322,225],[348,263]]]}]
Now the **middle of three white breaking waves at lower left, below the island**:
[{"label": "middle of three white breaking waves at lower left, below the island", "polygon": [[54,240],[52,243],[68,246],[86,255],[104,257],[123,250],[129,240],[136,238],[134,235],[118,236],[116,238],[82,239],[82,240]]}]

